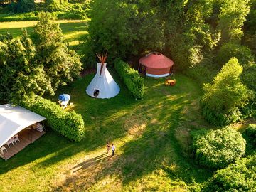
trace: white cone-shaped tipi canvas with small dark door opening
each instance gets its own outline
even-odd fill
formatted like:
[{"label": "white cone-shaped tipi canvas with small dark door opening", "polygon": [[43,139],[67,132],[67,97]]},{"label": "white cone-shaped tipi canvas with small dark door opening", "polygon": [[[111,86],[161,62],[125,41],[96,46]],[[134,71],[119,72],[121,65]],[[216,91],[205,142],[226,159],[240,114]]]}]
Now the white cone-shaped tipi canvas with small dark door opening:
[{"label": "white cone-shaped tipi canvas with small dark door opening", "polygon": [[116,96],[120,87],[114,81],[106,68],[107,63],[97,63],[97,73],[88,85],[86,92],[95,98],[110,98]]}]

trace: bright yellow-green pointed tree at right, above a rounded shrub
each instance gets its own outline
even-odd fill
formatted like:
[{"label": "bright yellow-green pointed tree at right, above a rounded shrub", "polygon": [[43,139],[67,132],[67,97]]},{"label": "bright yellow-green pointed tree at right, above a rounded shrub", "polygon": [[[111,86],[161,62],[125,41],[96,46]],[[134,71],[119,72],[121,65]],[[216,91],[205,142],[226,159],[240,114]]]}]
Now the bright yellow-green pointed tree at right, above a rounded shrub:
[{"label": "bright yellow-green pointed tree at right, above a rounded shrub", "polygon": [[225,125],[240,119],[238,107],[245,106],[250,97],[249,90],[240,80],[241,73],[242,66],[236,58],[231,58],[213,82],[204,85],[201,105],[208,122]]}]

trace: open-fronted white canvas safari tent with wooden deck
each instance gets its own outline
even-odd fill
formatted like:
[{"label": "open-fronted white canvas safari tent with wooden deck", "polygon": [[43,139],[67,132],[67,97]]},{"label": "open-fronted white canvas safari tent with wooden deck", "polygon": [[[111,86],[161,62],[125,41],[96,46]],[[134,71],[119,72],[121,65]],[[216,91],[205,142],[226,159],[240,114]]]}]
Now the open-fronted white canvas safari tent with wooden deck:
[{"label": "open-fronted white canvas safari tent with wooden deck", "polygon": [[[30,129],[31,125],[42,122],[43,132],[38,132],[36,129]],[[26,129],[28,128],[28,129]],[[14,154],[21,151],[24,147],[36,139],[41,137],[46,131],[46,118],[39,114],[26,110],[20,106],[0,105],[0,148],[6,147],[6,151],[0,152],[0,157],[7,160]],[[19,136],[19,142],[15,145],[6,146],[16,134]]]}]

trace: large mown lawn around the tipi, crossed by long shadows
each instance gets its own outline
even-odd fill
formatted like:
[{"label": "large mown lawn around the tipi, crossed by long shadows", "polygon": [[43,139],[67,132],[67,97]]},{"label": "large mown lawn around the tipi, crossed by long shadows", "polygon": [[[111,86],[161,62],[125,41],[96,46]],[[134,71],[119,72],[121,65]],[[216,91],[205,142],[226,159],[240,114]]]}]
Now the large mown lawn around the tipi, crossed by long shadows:
[{"label": "large mown lawn around the tipi, crossed by long shadows", "polygon": [[[201,90],[183,75],[174,87],[145,78],[144,100],[121,87],[111,99],[93,99],[85,89],[93,75],[60,88],[82,114],[86,137],[70,142],[48,133],[9,161],[0,160],[0,191],[191,191],[212,176],[190,155],[190,132],[208,127],[198,110]],[[117,155],[105,154],[107,140]]]}]

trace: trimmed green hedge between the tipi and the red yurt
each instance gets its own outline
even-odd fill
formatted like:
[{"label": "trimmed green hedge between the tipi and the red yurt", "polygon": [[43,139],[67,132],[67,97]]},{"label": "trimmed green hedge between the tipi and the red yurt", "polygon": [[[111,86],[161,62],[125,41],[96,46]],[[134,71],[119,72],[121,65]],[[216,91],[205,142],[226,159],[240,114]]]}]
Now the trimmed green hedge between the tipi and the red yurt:
[{"label": "trimmed green hedge between the tipi and the red yurt", "polygon": [[135,99],[142,99],[144,95],[144,79],[139,75],[137,70],[120,59],[114,60],[114,68]]}]

